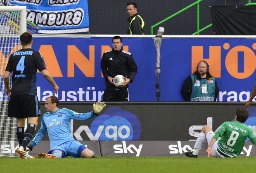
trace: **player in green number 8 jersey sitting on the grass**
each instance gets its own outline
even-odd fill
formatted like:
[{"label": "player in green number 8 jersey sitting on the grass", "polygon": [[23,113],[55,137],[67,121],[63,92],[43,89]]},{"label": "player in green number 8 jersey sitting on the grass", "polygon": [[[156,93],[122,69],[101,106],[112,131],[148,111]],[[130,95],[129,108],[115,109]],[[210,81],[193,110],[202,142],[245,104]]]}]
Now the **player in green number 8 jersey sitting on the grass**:
[{"label": "player in green number 8 jersey sitting on the grass", "polygon": [[[256,136],[244,122],[249,117],[249,113],[244,108],[238,108],[235,115],[235,122],[224,122],[220,129],[214,133],[211,127],[204,126],[199,133],[199,137],[194,145],[194,151],[186,152],[187,157],[197,157],[201,146],[207,140],[208,157],[237,157],[243,147],[246,138],[249,138],[256,145]],[[218,138],[220,140],[218,140]]]}]

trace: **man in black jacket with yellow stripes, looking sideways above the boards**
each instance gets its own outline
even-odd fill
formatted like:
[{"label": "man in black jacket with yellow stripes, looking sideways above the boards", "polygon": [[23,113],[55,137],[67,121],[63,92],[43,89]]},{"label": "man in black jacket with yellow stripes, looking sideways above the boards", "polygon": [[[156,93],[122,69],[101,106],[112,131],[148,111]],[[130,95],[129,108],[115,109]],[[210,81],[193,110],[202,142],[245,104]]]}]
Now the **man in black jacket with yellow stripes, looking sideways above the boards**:
[{"label": "man in black jacket with yellow stripes, looking sideways above the boards", "polygon": [[137,5],[135,2],[128,2],[126,4],[127,14],[129,18],[127,21],[129,22],[129,28],[127,30],[127,34],[129,35],[141,35],[145,33],[145,22],[142,17],[137,13]]}]

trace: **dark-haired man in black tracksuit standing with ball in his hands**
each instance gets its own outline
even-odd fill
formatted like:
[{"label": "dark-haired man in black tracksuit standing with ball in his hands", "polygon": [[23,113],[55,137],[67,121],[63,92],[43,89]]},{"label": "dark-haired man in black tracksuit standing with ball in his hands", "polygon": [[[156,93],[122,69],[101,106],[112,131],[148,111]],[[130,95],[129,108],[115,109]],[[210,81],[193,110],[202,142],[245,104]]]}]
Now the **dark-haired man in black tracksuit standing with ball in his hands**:
[{"label": "dark-haired man in black tracksuit standing with ball in his hands", "polygon": [[[112,39],[113,49],[105,51],[100,62],[101,70],[106,81],[103,101],[129,101],[128,83],[132,83],[137,73],[137,65],[130,52],[122,49],[122,38]],[[123,75],[125,82],[119,87],[113,83],[116,75]]]}]

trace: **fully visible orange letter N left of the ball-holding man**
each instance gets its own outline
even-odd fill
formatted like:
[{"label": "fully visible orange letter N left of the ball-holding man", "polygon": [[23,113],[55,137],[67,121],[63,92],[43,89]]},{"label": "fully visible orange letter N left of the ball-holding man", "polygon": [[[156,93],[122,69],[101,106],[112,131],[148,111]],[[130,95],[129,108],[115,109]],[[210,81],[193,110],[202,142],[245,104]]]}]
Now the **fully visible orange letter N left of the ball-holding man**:
[{"label": "fully visible orange letter N left of the ball-holding man", "polygon": [[74,45],[68,45],[68,77],[74,77],[74,66],[83,72],[86,77],[95,77],[95,46],[89,46],[89,58]]}]

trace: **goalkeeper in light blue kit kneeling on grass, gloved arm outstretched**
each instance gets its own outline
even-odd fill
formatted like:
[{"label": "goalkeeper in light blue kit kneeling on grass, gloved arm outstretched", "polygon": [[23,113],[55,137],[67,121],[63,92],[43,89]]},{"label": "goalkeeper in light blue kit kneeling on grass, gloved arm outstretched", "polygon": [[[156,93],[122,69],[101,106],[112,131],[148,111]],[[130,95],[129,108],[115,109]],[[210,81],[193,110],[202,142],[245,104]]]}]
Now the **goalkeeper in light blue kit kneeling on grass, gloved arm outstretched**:
[{"label": "goalkeeper in light blue kit kneeling on grass, gloved arm outstretched", "polygon": [[39,158],[61,158],[61,157],[94,157],[94,152],[75,140],[71,135],[71,119],[87,120],[98,117],[106,106],[104,102],[93,104],[93,111],[88,113],[77,113],[66,108],[58,108],[59,99],[50,96],[45,101],[47,112],[42,117],[40,130],[28,145],[29,150],[37,145],[45,136],[46,131],[50,139],[50,151],[38,153]]}]

